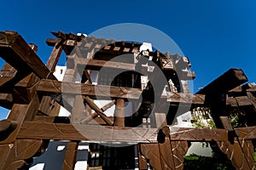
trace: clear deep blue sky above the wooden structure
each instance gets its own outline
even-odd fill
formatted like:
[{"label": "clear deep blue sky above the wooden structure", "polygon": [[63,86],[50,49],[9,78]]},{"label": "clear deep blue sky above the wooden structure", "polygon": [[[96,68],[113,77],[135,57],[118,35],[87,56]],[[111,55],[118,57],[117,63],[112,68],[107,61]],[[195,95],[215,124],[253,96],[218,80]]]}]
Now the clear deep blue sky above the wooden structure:
[{"label": "clear deep blue sky above the wooden structure", "polygon": [[165,32],[189,57],[194,92],[231,67],[256,82],[254,0],[16,0],[1,6],[0,30],[18,31],[26,42],[36,43],[44,63],[52,49],[45,43],[50,31],[90,34],[113,24],[140,23]]}]

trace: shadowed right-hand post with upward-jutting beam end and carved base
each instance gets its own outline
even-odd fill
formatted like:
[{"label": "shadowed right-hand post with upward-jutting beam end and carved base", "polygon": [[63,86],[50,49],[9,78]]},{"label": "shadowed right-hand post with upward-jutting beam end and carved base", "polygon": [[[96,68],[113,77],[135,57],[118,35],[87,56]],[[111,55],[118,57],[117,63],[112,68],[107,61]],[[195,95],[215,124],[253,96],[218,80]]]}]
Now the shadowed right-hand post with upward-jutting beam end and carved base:
[{"label": "shadowed right-hand post with upward-jutting beam end and carved base", "polygon": [[229,132],[229,141],[217,142],[219,149],[228,156],[236,169],[251,170],[254,169],[252,141],[241,141],[237,138],[236,131],[228,118],[229,113],[225,111],[228,91],[243,82],[247,82],[244,72],[230,69],[206,88],[202,88],[198,94],[206,94],[206,102],[210,105],[216,127],[224,128]]}]

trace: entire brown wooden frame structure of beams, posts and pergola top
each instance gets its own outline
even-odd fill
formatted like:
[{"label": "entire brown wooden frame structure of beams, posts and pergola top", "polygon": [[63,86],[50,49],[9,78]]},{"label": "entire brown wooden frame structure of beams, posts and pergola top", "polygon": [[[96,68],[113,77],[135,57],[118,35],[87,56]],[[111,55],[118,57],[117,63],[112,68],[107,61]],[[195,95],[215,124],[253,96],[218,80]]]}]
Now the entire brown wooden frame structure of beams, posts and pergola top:
[{"label": "entire brown wooden frame structure of beams, posts and pergola top", "polygon": [[[14,31],[0,32],[0,56],[6,61],[0,72],[0,105],[10,109],[8,118],[0,122],[0,169],[26,168],[32,156],[49,139],[69,141],[63,169],[74,168],[76,151],[82,140],[138,144],[140,169],[148,169],[148,164],[154,169],[183,169],[183,156],[189,149],[189,141],[216,142],[236,169],[254,169],[256,87],[252,84],[241,86],[247,82],[243,71],[230,69],[197,94],[189,94],[186,80],[195,78],[195,73],[188,71],[190,63],[186,57],[159,51],[138,54],[141,44],[135,42],[115,42],[61,31],[52,33],[56,38],[46,42],[54,48],[44,65],[36,54],[35,45],[27,44]],[[67,71],[60,82],[53,72],[62,51],[67,54]],[[154,111],[156,124],[164,120],[156,127],[137,126],[143,125],[148,100],[160,103],[150,99],[152,89],[147,84],[143,86],[140,78],[134,79],[133,85],[125,79],[111,86],[104,85],[105,82],[92,84],[91,71],[102,67],[130,71],[128,75],[133,77],[141,76],[132,71],[137,65],[142,70],[145,66],[130,61],[109,61],[121,54],[148,57],[160,66],[168,80],[172,80],[171,91],[159,98],[168,101],[170,112],[166,116]],[[76,82],[78,72],[82,72],[79,83]],[[65,88],[64,92],[63,87],[72,88]],[[102,93],[96,94],[96,89],[101,89]],[[108,90],[110,93],[106,93]],[[142,107],[137,114],[126,118],[126,99],[137,100],[141,95]],[[93,102],[95,96],[111,97],[113,101],[99,108]],[[106,116],[104,111],[112,105],[116,105],[114,116]],[[191,108],[209,107],[217,128],[170,127],[169,122],[174,119],[172,111],[188,105]],[[61,106],[72,116],[59,117]],[[247,127],[231,126],[230,108],[246,111]],[[91,122],[92,119],[96,123]],[[90,133],[90,138],[79,132],[78,127]],[[110,130],[104,131],[104,128]],[[146,131],[150,135],[139,135]]]}]

